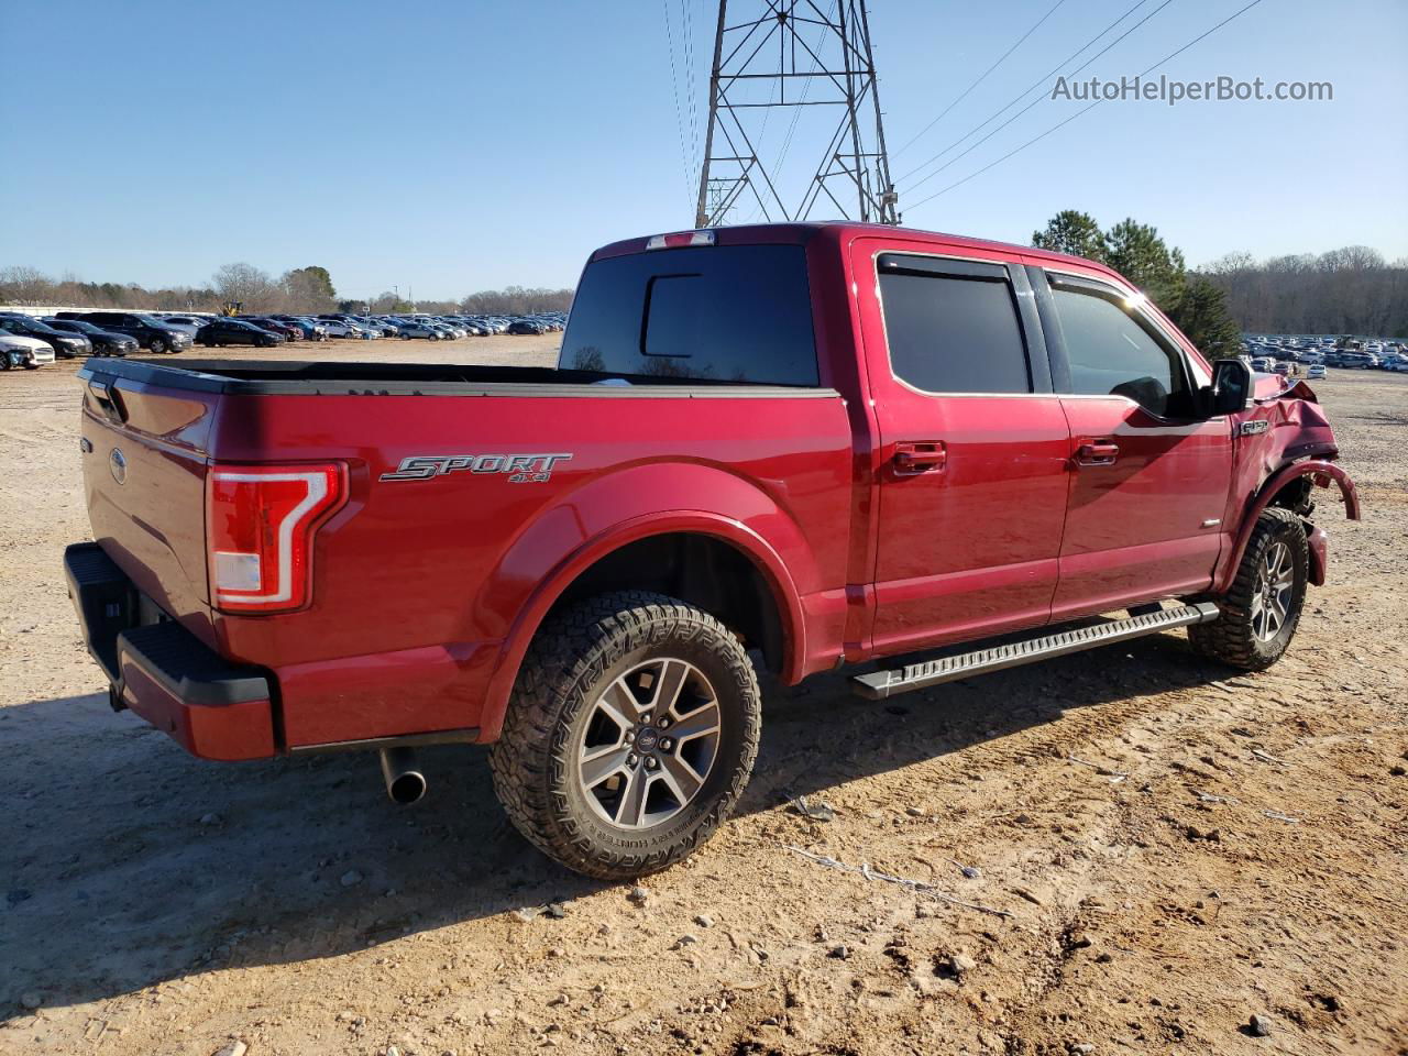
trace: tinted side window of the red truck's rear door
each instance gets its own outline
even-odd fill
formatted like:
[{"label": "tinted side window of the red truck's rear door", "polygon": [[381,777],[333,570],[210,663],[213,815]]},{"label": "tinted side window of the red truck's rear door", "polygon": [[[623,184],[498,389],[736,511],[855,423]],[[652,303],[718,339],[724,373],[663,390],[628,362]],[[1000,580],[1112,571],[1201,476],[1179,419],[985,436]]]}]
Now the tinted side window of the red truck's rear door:
[{"label": "tinted side window of the red truck's rear door", "polygon": [[1026,342],[1002,265],[886,253],[890,369],[926,393],[1029,393]]}]

